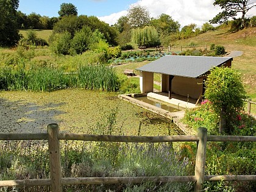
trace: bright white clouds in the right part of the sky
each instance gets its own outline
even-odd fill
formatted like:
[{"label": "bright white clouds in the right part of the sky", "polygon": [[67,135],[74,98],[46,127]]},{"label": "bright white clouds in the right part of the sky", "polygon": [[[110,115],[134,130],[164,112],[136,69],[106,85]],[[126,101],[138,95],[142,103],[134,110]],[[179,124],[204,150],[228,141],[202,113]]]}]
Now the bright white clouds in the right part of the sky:
[{"label": "bright white clouds in the right part of the sky", "polygon": [[[214,0],[140,0],[132,5],[143,5],[147,7],[151,17],[156,18],[162,13],[166,13],[173,20],[179,21],[181,27],[195,23],[197,27],[211,20],[221,9],[213,5]],[[112,15],[99,17],[100,20],[109,24],[115,24],[120,16],[127,14],[127,11],[113,13]],[[256,15],[256,9],[249,12]]]}]

